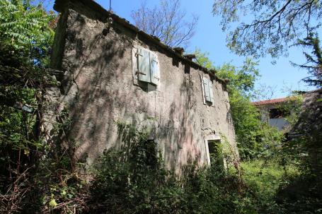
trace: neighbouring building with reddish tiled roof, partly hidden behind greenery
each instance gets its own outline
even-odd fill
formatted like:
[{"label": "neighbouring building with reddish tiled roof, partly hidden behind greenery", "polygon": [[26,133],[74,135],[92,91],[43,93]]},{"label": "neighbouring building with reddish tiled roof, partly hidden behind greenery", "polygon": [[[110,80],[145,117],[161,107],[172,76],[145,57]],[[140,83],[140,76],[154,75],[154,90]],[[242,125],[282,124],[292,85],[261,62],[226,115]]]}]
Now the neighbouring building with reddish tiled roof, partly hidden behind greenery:
[{"label": "neighbouring building with reddish tiled roof, partly hidden behind greenery", "polygon": [[270,126],[280,131],[289,129],[285,117],[289,116],[290,112],[289,108],[284,108],[284,105],[288,105],[287,97],[252,102],[252,104],[258,107],[262,121],[267,121]]}]

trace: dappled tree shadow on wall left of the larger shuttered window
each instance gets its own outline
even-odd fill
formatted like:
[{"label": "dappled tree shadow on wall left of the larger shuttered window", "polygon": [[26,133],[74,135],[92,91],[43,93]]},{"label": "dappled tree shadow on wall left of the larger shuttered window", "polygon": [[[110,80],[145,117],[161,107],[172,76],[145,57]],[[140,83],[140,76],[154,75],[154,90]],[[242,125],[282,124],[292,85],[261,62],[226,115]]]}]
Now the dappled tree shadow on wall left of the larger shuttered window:
[{"label": "dappled tree shadow on wall left of the larger shuttered window", "polygon": [[128,66],[120,62],[127,44],[110,42],[103,35],[103,23],[74,11],[70,11],[68,22],[62,65],[67,75],[62,82],[62,102],[68,106],[72,121],[69,138],[81,143],[77,151],[80,157],[91,154],[96,159],[102,144],[109,141],[110,131],[115,129],[113,108],[124,114],[133,96],[121,88],[110,87],[122,79],[122,71]]}]

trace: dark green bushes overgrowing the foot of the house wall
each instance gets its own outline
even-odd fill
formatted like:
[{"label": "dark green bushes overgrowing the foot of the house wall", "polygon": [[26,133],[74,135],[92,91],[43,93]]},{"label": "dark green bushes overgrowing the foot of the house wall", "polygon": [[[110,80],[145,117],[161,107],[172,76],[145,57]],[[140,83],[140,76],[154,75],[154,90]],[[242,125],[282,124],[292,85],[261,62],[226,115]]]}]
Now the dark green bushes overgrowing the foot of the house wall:
[{"label": "dark green bushes overgrowing the foot of the house wall", "polygon": [[256,199],[235,172],[192,164],[178,177],[163,167],[146,128],[116,124],[125,148],[105,150],[100,157],[92,213],[257,213],[251,203]]}]

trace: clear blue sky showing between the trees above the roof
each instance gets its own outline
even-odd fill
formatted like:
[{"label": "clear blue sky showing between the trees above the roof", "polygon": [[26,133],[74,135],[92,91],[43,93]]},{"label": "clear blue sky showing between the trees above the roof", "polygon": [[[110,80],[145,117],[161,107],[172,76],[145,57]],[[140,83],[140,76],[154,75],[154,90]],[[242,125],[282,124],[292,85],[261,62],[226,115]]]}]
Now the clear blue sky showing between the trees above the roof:
[{"label": "clear blue sky showing between the trees above the roof", "polygon": [[[106,9],[109,8],[109,0],[96,2]],[[131,11],[137,9],[141,2],[141,0],[112,0],[113,12],[133,23]],[[159,0],[147,0],[146,2],[154,6],[159,3]],[[216,66],[225,62],[241,66],[245,57],[238,57],[226,47],[226,32],[222,32],[219,25],[220,18],[212,15],[213,2],[212,0],[181,0],[183,11],[199,16],[195,36],[190,40],[186,52],[193,52],[197,47],[202,52],[209,52],[209,59],[214,61]],[[47,1],[46,7],[52,8],[52,3],[53,1],[50,3]],[[263,90],[264,86],[264,91],[270,94],[268,97],[283,97],[289,95],[290,90],[314,90],[313,87],[300,82],[302,78],[307,76],[306,70],[295,68],[289,63],[289,61],[297,63],[305,61],[301,49],[297,47],[290,49],[289,57],[280,57],[276,60],[276,64],[272,64],[271,61],[270,57],[259,59],[258,69],[261,77],[255,84],[258,90]]]}]

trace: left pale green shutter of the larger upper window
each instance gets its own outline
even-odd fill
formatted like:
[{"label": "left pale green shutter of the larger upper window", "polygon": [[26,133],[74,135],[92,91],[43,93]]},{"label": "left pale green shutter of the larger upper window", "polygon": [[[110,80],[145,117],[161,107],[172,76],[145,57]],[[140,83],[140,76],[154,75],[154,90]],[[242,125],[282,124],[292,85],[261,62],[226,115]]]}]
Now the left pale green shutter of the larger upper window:
[{"label": "left pale green shutter of the larger upper window", "polygon": [[139,48],[137,52],[138,71],[137,75],[139,81],[150,82],[150,57],[149,51]]}]

